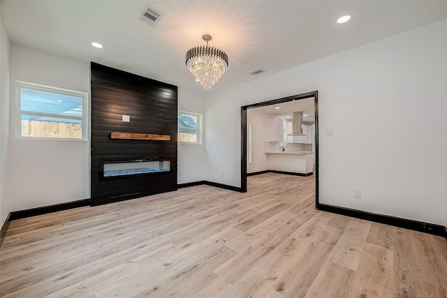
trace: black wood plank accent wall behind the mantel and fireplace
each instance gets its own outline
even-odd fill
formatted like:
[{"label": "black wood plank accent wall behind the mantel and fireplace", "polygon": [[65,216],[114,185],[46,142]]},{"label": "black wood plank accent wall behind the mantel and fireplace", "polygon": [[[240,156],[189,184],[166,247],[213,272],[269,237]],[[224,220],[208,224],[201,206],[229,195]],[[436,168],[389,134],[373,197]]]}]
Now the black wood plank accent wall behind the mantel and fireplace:
[{"label": "black wood plank accent wall behind the mantel and fireplace", "polygon": [[[130,115],[123,122],[122,115]],[[112,132],[170,140],[112,139]],[[170,159],[166,173],[100,177],[104,161]],[[177,190],[177,86],[91,62],[91,205]]]}]

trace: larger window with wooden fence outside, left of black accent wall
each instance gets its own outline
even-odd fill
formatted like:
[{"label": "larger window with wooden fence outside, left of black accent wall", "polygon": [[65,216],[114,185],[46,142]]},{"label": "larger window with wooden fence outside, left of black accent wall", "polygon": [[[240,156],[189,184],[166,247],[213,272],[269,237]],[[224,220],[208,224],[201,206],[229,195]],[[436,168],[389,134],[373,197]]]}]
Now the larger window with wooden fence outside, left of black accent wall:
[{"label": "larger window with wooden fence outside, left of black accent wall", "polygon": [[87,94],[17,83],[19,137],[87,140]]}]

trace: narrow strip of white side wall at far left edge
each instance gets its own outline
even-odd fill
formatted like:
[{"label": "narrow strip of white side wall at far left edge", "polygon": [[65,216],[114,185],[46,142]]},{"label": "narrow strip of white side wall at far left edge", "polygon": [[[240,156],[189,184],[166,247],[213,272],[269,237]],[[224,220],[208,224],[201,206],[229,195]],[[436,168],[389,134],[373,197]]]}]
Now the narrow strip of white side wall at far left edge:
[{"label": "narrow strip of white side wall at far left edge", "polygon": [[0,17],[0,228],[6,221],[10,212],[7,181],[9,138],[9,47],[10,42],[8,33],[6,33],[6,28]]}]

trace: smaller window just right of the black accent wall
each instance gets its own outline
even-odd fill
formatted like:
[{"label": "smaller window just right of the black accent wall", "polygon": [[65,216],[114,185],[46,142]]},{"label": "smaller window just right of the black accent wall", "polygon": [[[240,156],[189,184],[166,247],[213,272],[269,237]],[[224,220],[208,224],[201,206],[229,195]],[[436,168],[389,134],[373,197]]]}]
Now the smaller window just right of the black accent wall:
[{"label": "smaller window just right of the black accent wall", "polygon": [[202,115],[179,111],[178,142],[202,144]]}]

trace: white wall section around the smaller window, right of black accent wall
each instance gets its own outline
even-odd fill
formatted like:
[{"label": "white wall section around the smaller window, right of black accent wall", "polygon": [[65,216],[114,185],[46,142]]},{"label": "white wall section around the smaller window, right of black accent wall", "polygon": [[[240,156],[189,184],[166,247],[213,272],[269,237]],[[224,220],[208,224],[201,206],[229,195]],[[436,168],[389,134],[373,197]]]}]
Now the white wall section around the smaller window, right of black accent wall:
[{"label": "white wall section around the smaller window, right of black accent wall", "polygon": [[[203,114],[203,95],[195,94],[182,89],[178,90],[178,108],[184,112]],[[207,119],[203,116],[202,121]],[[204,128],[203,128],[204,129]],[[188,183],[202,181],[205,179],[205,137],[203,134],[202,144],[178,143],[178,172],[177,183]]]}]

